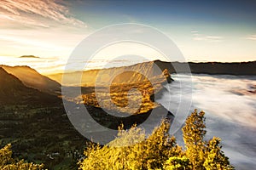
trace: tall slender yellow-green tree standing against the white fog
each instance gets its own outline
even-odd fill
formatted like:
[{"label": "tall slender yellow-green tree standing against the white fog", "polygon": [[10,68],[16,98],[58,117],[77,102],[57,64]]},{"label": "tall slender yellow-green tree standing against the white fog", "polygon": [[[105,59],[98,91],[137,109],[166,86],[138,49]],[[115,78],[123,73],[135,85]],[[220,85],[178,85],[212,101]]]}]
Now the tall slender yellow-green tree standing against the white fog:
[{"label": "tall slender yellow-green tree standing against the white fog", "polygon": [[204,169],[206,142],[203,140],[207,131],[205,130],[205,112],[195,110],[186,119],[183,127],[183,140],[186,147],[186,156],[192,164],[192,169]]}]

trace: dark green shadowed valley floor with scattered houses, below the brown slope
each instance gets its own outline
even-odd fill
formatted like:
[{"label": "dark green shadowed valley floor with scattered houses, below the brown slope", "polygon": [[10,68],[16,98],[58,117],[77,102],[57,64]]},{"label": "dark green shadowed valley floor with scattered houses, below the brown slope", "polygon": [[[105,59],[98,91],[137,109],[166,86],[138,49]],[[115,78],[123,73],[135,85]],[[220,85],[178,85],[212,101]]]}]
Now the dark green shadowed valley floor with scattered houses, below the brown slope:
[{"label": "dark green shadowed valley floor with scattered houses, below the brown slope", "polygon": [[14,157],[49,170],[78,168],[86,139],[61,106],[0,105],[0,120],[0,148],[11,143]]}]

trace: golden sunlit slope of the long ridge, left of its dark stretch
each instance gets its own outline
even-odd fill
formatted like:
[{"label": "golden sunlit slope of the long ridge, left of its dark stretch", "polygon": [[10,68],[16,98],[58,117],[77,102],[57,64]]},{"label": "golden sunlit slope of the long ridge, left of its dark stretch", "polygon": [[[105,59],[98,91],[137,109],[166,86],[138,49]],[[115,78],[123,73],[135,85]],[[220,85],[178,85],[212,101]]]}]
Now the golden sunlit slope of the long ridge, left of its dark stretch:
[{"label": "golden sunlit slope of the long ridge, left of its dark stretch", "polygon": [[[162,71],[158,65],[154,64],[154,61],[139,63],[130,66],[114,67],[102,70],[90,70],[90,71],[77,71],[65,73],[65,82],[62,82],[63,74],[49,75],[48,77],[54,79],[62,85],[73,86],[94,86],[96,84],[111,83],[137,83],[143,82],[147,79],[155,79],[163,76]],[[81,78],[81,84],[78,84],[78,80]],[[113,82],[112,82],[113,81]]]}]

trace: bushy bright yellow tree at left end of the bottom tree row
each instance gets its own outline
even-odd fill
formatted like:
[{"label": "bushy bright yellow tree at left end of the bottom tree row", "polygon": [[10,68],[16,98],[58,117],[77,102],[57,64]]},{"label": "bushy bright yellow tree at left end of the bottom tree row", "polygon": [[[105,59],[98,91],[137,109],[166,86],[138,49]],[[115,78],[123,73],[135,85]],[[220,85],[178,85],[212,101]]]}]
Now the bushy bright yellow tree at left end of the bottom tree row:
[{"label": "bushy bright yellow tree at left end of the bottom tree row", "polygon": [[143,142],[145,133],[143,129],[131,127],[125,131],[119,128],[119,134],[109,144],[100,146],[99,144],[90,144],[84,151],[86,159],[79,162],[80,169],[139,169],[143,167],[141,160],[141,151],[143,150]]}]

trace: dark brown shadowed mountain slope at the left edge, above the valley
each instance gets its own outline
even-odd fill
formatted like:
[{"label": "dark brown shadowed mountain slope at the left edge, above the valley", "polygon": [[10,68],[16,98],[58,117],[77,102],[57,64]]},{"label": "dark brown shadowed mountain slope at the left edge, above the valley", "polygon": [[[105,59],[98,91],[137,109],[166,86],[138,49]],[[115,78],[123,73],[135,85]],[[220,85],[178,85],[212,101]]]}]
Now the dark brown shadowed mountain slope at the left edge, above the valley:
[{"label": "dark brown shadowed mountain slope at the left edge, above the valley", "polygon": [[54,105],[61,99],[27,88],[17,77],[0,67],[0,105]]}]

